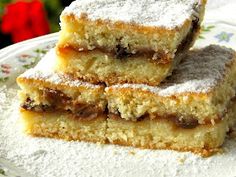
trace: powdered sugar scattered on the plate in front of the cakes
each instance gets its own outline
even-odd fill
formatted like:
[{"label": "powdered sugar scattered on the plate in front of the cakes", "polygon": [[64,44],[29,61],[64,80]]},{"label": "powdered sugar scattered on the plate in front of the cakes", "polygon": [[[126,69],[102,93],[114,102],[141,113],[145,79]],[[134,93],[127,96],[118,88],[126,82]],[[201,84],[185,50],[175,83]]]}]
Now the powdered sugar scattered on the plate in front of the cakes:
[{"label": "powdered sugar scattered on the plate in front of the cakes", "polygon": [[[32,138],[19,126],[17,90],[0,92],[0,157],[35,177],[142,177],[236,175],[236,141],[228,139],[225,153],[201,158],[191,153],[140,150],[113,145]],[[27,176],[26,176],[27,177]]]}]

